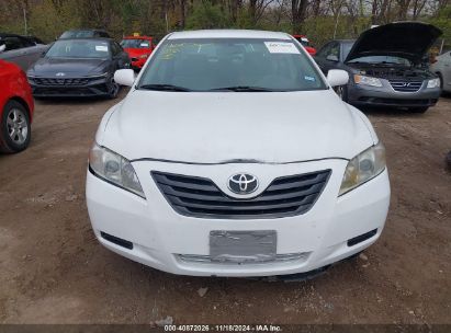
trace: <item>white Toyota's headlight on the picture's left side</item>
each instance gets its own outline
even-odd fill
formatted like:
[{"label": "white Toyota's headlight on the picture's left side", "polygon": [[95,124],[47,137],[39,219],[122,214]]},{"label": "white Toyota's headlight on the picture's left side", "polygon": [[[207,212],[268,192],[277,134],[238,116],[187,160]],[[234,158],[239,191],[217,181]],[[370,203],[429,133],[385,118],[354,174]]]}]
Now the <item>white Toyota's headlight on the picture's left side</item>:
[{"label": "white Toyota's headlight on the picture's left side", "polygon": [[94,143],[89,152],[89,166],[104,181],[146,198],[135,169],[122,156]]}]

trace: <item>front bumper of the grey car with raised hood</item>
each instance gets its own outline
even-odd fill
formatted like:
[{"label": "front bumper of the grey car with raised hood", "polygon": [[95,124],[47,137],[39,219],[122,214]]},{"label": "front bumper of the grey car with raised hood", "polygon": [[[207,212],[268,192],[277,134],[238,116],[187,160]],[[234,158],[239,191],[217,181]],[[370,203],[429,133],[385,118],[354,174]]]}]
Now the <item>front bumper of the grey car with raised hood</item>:
[{"label": "front bumper of the grey car with raised hood", "polygon": [[440,88],[427,89],[422,82],[416,92],[401,92],[392,88],[387,80],[381,79],[383,87],[348,84],[348,103],[361,106],[426,107],[433,106],[440,97]]}]

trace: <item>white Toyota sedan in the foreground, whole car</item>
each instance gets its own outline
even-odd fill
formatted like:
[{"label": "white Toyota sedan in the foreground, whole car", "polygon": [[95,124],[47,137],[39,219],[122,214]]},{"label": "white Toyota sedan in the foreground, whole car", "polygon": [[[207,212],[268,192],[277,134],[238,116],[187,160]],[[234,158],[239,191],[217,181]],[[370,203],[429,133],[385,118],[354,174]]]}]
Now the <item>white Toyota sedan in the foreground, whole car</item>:
[{"label": "white Toyota sedan in the foreground, whole car", "polygon": [[369,119],[293,37],[164,38],[103,117],[87,203],[108,249],[198,276],[316,273],[374,243],[390,183]]}]

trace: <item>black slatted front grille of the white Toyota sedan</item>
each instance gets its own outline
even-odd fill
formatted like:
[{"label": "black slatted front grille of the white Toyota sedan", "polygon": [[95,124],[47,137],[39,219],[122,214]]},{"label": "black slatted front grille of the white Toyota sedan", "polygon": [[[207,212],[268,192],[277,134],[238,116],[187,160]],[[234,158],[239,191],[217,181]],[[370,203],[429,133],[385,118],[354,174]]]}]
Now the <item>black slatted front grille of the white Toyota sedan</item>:
[{"label": "black slatted front grille of the white Toyota sedan", "polygon": [[330,170],[275,179],[260,195],[237,199],[211,180],[153,172],[155,182],[173,209],[200,218],[280,218],[306,213],[323,192]]}]

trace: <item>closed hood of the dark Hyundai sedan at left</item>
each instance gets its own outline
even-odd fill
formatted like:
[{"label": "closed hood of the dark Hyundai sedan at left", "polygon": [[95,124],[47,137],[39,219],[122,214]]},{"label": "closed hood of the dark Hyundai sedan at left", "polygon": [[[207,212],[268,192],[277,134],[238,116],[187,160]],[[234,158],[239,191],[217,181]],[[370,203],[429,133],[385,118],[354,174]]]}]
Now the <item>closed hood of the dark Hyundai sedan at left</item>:
[{"label": "closed hood of the dark Hyundai sedan at left", "polygon": [[84,77],[103,73],[110,65],[109,59],[69,59],[69,58],[41,58],[27,71],[29,76],[54,77]]}]

